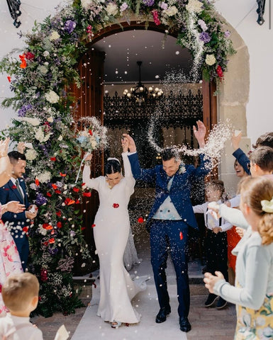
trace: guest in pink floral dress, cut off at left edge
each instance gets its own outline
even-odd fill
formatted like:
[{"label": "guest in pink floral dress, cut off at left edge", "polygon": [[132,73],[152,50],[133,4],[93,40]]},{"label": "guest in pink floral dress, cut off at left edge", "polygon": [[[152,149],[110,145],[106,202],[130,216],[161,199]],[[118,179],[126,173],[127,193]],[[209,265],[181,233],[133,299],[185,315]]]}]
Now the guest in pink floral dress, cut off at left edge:
[{"label": "guest in pink floral dress, cut off at left edge", "polygon": [[[9,139],[0,141],[0,185],[9,181],[11,177],[11,163],[7,155],[8,147]],[[23,271],[16,244],[1,221],[1,215],[7,211],[16,213],[23,210],[25,210],[24,205],[16,201],[0,205],[0,317],[8,311],[2,300],[1,286],[11,274]]]}]

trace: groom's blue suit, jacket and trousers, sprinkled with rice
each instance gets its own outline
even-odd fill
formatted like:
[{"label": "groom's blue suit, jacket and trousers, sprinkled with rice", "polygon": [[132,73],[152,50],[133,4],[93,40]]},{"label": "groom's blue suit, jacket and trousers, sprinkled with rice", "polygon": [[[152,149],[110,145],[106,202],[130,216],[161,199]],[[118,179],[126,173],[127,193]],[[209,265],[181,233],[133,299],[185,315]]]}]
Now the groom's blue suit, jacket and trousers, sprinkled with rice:
[{"label": "groom's blue suit, jacket and trousers, sprinkled with rice", "polygon": [[[177,275],[177,297],[179,301],[179,317],[188,317],[189,314],[189,276],[187,259],[188,227],[198,229],[194,210],[190,200],[191,180],[203,178],[208,174],[208,166],[201,156],[201,165],[195,168],[193,165],[185,165],[184,171],[174,174],[171,188],[167,189],[169,177],[162,165],[152,169],[141,169],[138,154],[130,154],[129,160],[135,179],[155,183],[155,201],[147,217],[147,229],[150,231],[151,263],[154,272],[155,286],[157,288],[160,308],[169,307],[169,294],[167,291],[167,267],[168,249],[174,263]],[[170,197],[177,209],[181,220],[155,220],[152,217],[167,197]]]}]

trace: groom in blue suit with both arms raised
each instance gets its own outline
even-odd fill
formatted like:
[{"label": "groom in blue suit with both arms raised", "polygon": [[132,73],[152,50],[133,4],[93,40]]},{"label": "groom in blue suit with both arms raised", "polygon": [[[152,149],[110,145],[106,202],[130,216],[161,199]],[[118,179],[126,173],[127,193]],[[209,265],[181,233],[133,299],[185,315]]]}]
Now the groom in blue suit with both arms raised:
[{"label": "groom in blue suit with both arms raised", "polygon": [[[194,135],[199,147],[204,147],[205,125],[199,120],[198,130],[194,126]],[[201,155],[201,165],[183,164],[177,149],[169,147],[162,152],[162,165],[152,169],[141,169],[132,137],[129,140],[129,160],[135,179],[155,183],[155,201],[147,217],[147,229],[150,231],[151,263],[157,289],[160,311],[155,322],[165,322],[171,312],[169,293],[167,291],[168,249],[177,275],[177,297],[179,302],[179,324],[182,331],[190,331],[189,323],[189,276],[187,261],[188,229],[198,229],[190,200],[191,180],[203,178],[208,174],[209,161]]]}]

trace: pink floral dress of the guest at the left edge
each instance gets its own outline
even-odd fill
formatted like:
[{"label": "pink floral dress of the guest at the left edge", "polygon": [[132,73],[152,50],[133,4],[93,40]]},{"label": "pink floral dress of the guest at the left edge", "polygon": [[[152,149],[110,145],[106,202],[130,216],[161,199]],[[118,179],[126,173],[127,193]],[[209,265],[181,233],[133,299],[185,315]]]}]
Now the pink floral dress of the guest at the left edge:
[{"label": "pink floral dress of the guest at the left edge", "polygon": [[[0,205],[0,218],[1,218]],[[8,309],[2,300],[1,288],[6,278],[13,273],[23,273],[20,256],[13,237],[0,220],[0,317],[4,317]]]}]

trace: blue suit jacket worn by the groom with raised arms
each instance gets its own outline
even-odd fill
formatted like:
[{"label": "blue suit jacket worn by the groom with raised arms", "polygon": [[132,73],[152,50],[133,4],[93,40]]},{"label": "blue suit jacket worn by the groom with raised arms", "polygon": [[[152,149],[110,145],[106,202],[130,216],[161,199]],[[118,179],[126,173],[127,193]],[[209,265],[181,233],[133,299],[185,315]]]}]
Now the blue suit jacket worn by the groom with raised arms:
[{"label": "blue suit jacket worn by the groom with raised arms", "polygon": [[162,205],[165,199],[170,196],[172,203],[182,220],[194,229],[198,229],[190,199],[191,181],[194,178],[201,179],[208,174],[210,171],[210,169],[208,169],[209,166],[205,167],[204,165],[208,165],[210,161],[204,161],[204,155],[201,155],[201,165],[197,168],[193,165],[185,164],[185,171],[178,170],[177,173],[174,174],[172,186],[168,191],[167,184],[169,179],[162,165],[157,165],[152,169],[141,169],[137,153],[130,154],[129,160],[135,179],[140,179],[147,183],[155,183],[155,201],[152,205],[150,214],[147,217],[147,225],[152,216],[155,215],[155,212],[157,212],[158,208],[160,208],[160,205]]}]

